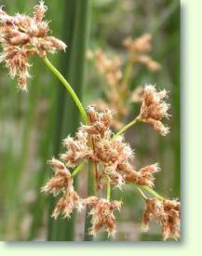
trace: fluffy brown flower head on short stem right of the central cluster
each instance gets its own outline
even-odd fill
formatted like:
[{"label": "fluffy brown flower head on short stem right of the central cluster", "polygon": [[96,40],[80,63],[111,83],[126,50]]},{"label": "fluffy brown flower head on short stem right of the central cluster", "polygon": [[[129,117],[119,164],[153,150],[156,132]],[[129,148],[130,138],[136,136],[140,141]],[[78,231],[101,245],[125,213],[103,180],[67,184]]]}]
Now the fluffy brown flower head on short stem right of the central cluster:
[{"label": "fluffy brown flower head on short stem right of the central cluster", "polygon": [[168,127],[161,122],[164,117],[168,118],[169,116],[169,104],[163,101],[166,97],[165,89],[157,92],[154,86],[146,86],[143,90],[141,113],[138,117],[142,122],[152,125],[162,135],[167,135],[169,131]]}]

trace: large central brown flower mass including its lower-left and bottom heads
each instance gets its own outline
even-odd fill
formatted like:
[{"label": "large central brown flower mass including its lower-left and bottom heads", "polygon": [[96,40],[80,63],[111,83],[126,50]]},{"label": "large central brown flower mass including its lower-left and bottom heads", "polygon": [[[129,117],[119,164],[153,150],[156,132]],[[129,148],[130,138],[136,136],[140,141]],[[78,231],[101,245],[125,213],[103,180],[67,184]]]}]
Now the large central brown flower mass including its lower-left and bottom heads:
[{"label": "large central brown flower mass including its lower-left and bottom heads", "polygon": [[[82,199],[74,191],[73,177],[68,168],[76,168],[84,161],[92,161],[96,167],[98,189],[110,185],[122,188],[126,182],[154,186],[153,174],[159,171],[158,165],[151,165],[140,170],[133,167],[134,153],[123,136],[114,136],[110,127],[113,114],[110,110],[98,112],[94,106],[88,107],[88,125],[82,125],[75,138],[63,141],[66,151],[61,161],[53,158],[49,161],[54,177],[42,188],[43,192],[61,195],[52,216],[56,219],[61,214],[70,217],[74,208],[88,206],[92,215],[90,234],[95,236],[105,227],[109,236],[115,232],[114,209],[120,209],[121,202],[109,201],[96,196]],[[106,179],[107,178],[107,179]],[[107,180],[107,181],[106,181]]]}]

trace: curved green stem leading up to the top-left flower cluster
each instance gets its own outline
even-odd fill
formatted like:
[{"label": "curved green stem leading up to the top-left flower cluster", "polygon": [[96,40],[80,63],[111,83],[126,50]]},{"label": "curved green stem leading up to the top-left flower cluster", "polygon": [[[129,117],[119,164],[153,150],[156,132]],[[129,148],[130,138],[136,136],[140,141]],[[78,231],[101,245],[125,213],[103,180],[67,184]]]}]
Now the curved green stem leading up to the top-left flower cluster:
[{"label": "curved green stem leading up to the top-left flower cluster", "polygon": [[63,75],[53,66],[53,64],[47,59],[47,57],[44,58],[45,63],[47,64],[47,67],[49,70],[58,77],[58,79],[61,81],[61,84],[68,90],[71,97],[73,98],[76,106],[78,107],[78,110],[80,114],[82,115],[83,120],[85,123],[88,123],[88,116],[87,113],[81,103],[81,101],[78,99],[77,95],[74,92],[74,89],[70,86],[70,84],[66,81],[66,79],[63,77]]}]

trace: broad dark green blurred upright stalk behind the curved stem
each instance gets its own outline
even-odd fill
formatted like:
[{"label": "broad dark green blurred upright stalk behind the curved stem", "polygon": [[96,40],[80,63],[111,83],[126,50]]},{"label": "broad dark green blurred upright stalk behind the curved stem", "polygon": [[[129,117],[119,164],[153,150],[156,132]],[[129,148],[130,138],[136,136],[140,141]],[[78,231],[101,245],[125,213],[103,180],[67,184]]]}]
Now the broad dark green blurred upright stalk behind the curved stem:
[{"label": "broad dark green blurred upright stalk behind the curved stem", "polygon": [[[80,99],[82,98],[82,92],[85,84],[85,53],[88,44],[88,22],[88,0],[65,1],[64,38],[65,42],[69,46],[69,50],[67,52],[67,54],[69,53],[69,56],[66,55],[65,59],[62,59],[61,70],[65,77],[69,77],[71,85],[74,85],[74,92]],[[64,137],[69,133],[74,134],[76,128],[78,127],[80,118],[78,115],[76,115],[76,108],[80,106],[80,109],[82,109],[82,105],[75,105],[71,101],[66,101],[66,99],[63,97],[62,99],[65,101],[65,104],[62,115],[63,118],[61,120],[61,137]],[[61,101],[61,98],[59,98],[59,101]],[[86,123],[88,118],[85,111],[83,111],[82,117]],[[60,149],[58,146],[57,148]],[[77,177],[74,177],[75,190],[77,182]],[[51,203],[52,205],[50,205],[50,211],[54,208],[54,200],[52,200]],[[75,212],[70,220],[58,219],[57,221],[53,221],[51,218],[49,218],[48,240],[74,241],[75,220]]]}]

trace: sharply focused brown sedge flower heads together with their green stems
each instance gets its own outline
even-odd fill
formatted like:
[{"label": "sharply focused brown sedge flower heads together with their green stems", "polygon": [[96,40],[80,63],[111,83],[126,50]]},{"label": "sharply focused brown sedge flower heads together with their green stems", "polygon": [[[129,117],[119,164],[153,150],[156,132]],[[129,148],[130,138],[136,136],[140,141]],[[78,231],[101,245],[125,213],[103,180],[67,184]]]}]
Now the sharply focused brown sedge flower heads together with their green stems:
[{"label": "sharply focused brown sedge flower heads together with their green stems", "polygon": [[[128,128],[137,122],[150,124],[163,136],[168,134],[169,128],[163,124],[163,119],[169,117],[170,106],[165,101],[167,91],[158,91],[152,85],[145,86],[139,115],[114,133],[111,129],[114,112],[108,108],[99,111],[96,105],[84,107],[71,85],[47,59],[47,53],[65,50],[66,45],[48,35],[48,22],[44,21],[46,12],[47,7],[43,1],[34,7],[32,17],[21,14],[9,16],[5,10],[0,9],[0,61],[5,63],[11,77],[17,78],[19,88],[27,90],[31,68],[29,59],[33,55],[39,56],[50,72],[60,80],[81,115],[82,124],[74,138],[69,135],[62,142],[65,151],[58,158],[48,160],[53,176],[41,191],[58,198],[52,217],[69,219],[74,209],[88,209],[84,232],[88,236],[85,236],[85,240],[92,240],[101,229],[109,237],[115,236],[114,211],[121,210],[124,205],[122,201],[112,200],[111,192],[114,187],[118,187],[124,193],[125,185],[132,183],[145,202],[142,229],[147,231],[150,220],[155,219],[162,227],[164,239],[179,239],[180,202],[155,192],[155,173],[160,171],[159,165],[154,163],[141,169],[135,168],[134,151],[124,137]],[[84,167],[87,165],[88,196],[84,197],[74,188],[74,179],[86,171]]]}]

